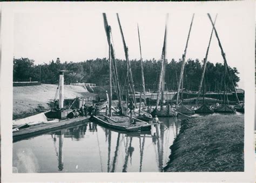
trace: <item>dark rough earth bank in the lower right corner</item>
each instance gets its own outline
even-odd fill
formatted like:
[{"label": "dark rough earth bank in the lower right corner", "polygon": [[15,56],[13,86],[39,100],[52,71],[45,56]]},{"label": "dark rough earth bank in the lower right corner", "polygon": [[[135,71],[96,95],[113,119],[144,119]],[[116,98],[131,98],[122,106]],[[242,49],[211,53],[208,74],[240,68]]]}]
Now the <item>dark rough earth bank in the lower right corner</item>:
[{"label": "dark rough earth bank in the lower right corner", "polygon": [[191,118],[181,123],[165,172],[244,171],[244,116]]}]

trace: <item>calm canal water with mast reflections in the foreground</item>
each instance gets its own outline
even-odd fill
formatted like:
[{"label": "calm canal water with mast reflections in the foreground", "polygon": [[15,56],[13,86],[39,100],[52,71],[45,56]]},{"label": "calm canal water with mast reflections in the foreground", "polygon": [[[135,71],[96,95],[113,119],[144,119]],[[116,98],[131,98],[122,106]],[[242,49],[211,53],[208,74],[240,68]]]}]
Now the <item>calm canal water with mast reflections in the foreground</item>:
[{"label": "calm canal water with mast reflections in the foreground", "polygon": [[162,172],[185,118],[143,133],[122,133],[87,122],[13,143],[13,170],[36,172]]}]

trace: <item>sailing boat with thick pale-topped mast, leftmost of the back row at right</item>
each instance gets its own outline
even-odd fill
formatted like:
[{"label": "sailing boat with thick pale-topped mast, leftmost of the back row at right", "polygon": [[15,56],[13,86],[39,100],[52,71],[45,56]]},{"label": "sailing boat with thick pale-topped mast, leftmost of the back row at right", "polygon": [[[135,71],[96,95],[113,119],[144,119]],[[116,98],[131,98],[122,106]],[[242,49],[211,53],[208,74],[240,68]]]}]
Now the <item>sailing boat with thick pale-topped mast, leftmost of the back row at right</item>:
[{"label": "sailing boat with thick pale-topped mast, leftmost of the back row at right", "polygon": [[[164,45],[161,55],[161,71],[160,71],[160,77],[159,77],[159,83],[158,83],[158,93],[157,93],[157,104],[156,108],[151,113],[152,116],[158,116],[158,117],[174,117],[177,116],[177,113],[173,110],[173,108],[167,104],[167,106],[164,108],[164,87],[165,87],[165,63],[166,63],[166,38],[167,38],[167,22],[168,22],[168,16],[166,15],[166,23],[165,23],[165,33],[164,33]],[[160,110],[158,109],[158,104],[160,100],[160,93],[161,93],[161,105]]]}]

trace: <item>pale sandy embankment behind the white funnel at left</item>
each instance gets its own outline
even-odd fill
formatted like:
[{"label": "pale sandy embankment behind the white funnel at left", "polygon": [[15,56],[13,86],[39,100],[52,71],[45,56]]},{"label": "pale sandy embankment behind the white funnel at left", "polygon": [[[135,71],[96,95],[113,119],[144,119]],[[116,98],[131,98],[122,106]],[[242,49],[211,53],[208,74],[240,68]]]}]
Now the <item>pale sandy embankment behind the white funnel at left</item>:
[{"label": "pale sandy embankment behind the white funnel at left", "polygon": [[[37,86],[14,87],[13,119],[24,118],[50,110],[50,101],[54,99],[57,85],[41,84]],[[72,99],[94,95],[82,86],[64,86],[64,98]],[[58,97],[57,97],[58,99]]]}]

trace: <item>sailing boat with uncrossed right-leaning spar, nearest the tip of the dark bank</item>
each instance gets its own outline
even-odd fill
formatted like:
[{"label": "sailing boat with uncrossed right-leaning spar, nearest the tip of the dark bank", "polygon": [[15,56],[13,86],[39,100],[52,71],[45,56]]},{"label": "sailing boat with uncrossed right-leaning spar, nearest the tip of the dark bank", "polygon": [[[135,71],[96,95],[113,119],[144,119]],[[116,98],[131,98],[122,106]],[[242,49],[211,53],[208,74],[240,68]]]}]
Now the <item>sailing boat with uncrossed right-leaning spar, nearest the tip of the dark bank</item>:
[{"label": "sailing boat with uncrossed right-leaning spar, nearest the tip of the dark bank", "polygon": [[[185,67],[185,58],[186,58],[186,52],[187,52],[187,45],[188,45],[188,40],[190,38],[190,32],[191,32],[191,28],[192,28],[192,24],[193,24],[193,19],[194,19],[194,14],[192,16],[192,21],[190,24],[190,30],[188,31],[188,36],[187,36],[187,42],[186,42],[186,47],[185,47],[185,51],[184,54],[182,56],[182,66],[181,66],[181,72],[180,72],[180,78],[179,78],[179,85],[178,85],[178,92],[177,92],[177,109],[176,111],[182,114],[193,114],[194,111],[191,109],[188,109],[186,106],[183,105],[183,93],[181,93],[181,105],[178,106],[179,103],[179,92],[180,92],[180,86],[183,86],[183,78],[184,78],[184,67]],[[183,92],[183,91],[181,91]]]}]

